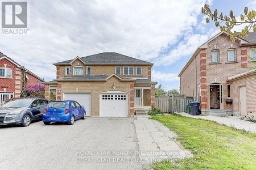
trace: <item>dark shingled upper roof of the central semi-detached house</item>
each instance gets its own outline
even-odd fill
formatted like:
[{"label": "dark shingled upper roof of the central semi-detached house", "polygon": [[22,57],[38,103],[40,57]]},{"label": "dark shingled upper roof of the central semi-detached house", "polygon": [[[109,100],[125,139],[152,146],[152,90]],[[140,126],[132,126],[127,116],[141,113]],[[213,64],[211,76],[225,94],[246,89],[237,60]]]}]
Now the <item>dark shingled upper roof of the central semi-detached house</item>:
[{"label": "dark shingled upper roof of the central semi-detached house", "polygon": [[[104,52],[79,58],[86,65],[154,65],[151,62],[125,56],[114,52]],[[69,65],[74,59],[53,63],[53,65]]]}]

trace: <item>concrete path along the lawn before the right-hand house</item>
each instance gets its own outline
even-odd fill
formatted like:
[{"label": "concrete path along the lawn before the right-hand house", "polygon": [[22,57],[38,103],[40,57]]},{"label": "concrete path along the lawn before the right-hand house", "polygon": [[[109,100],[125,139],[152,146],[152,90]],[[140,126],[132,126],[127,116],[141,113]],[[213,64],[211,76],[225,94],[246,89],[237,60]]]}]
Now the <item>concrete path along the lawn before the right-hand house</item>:
[{"label": "concrete path along the lawn before the right-hand house", "polygon": [[251,133],[256,133],[256,124],[254,122],[249,122],[245,120],[241,120],[240,117],[237,116],[229,116],[229,117],[218,117],[218,116],[192,116],[188,113],[177,113],[182,116],[192,117],[192,118],[201,118],[204,120],[216,121],[220,124],[224,124],[230,127],[234,127],[241,130],[250,131]]}]

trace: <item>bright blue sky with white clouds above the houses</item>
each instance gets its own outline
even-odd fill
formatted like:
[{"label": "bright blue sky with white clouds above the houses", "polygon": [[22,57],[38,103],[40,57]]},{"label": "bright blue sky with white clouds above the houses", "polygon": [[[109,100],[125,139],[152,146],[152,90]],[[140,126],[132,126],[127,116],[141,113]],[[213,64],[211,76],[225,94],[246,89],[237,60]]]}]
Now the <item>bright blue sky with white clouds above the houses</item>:
[{"label": "bright blue sky with white clouds above the houses", "polygon": [[[153,62],[152,80],[179,89],[177,75],[196,48],[220,32],[206,24],[201,7],[240,16],[255,1],[123,0],[29,1],[28,34],[0,33],[0,52],[45,80],[56,78],[52,63],[102,52]],[[236,28],[238,31],[240,28]]]}]

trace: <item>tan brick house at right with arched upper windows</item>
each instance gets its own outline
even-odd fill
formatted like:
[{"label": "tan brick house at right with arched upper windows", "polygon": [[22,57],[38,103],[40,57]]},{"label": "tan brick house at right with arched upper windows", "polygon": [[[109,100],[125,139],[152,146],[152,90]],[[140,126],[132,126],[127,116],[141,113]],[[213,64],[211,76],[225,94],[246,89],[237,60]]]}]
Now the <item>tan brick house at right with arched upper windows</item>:
[{"label": "tan brick house at right with arched upper windows", "polygon": [[255,66],[255,40],[256,33],[250,32],[233,43],[222,31],[199,46],[179,74],[180,94],[201,101],[202,114],[255,114],[256,70],[247,69]]}]

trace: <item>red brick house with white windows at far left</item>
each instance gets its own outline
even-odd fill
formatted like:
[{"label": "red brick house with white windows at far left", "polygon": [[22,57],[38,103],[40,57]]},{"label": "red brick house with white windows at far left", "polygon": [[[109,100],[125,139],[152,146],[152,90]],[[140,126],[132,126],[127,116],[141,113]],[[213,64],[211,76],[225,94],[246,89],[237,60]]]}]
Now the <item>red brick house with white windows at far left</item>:
[{"label": "red brick house with white windows at far left", "polygon": [[0,105],[13,97],[20,96],[23,82],[22,70],[26,72],[27,86],[41,84],[44,81],[0,52]]}]

